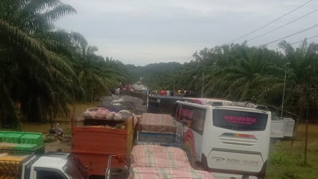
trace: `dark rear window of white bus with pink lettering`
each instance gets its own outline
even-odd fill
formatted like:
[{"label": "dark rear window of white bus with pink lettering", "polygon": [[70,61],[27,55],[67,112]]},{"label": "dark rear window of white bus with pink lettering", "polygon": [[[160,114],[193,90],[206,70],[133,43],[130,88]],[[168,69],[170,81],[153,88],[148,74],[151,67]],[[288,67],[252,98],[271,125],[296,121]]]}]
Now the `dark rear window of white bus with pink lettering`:
[{"label": "dark rear window of white bus with pink lettering", "polygon": [[213,125],[234,131],[264,131],[267,118],[268,115],[263,113],[225,109],[213,110]]}]

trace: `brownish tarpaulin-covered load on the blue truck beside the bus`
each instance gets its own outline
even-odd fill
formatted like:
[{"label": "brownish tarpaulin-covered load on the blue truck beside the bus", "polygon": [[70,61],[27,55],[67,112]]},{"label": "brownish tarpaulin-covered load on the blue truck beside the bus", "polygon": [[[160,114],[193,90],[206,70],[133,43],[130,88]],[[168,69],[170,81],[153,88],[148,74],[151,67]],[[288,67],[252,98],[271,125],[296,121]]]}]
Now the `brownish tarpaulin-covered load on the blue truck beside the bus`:
[{"label": "brownish tarpaulin-covered load on the blue truck beside the bus", "polygon": [[176,125],[173,118],[168,114],[143,113],[139,131],[175,133]]}]

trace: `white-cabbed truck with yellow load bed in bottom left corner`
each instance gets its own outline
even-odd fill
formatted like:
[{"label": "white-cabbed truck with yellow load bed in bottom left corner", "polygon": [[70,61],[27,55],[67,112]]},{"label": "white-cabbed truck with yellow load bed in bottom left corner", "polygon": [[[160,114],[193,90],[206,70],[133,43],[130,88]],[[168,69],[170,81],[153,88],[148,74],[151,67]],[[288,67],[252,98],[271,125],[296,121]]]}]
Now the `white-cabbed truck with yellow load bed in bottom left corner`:
[{"label": "white-cabbed truck with yellow load bed in bottom left corner", "polygon": [[86,168],[76,155],[48,153],[38,157],[34,154],[0,154],[0,178],[6,179],[87,179]]}]

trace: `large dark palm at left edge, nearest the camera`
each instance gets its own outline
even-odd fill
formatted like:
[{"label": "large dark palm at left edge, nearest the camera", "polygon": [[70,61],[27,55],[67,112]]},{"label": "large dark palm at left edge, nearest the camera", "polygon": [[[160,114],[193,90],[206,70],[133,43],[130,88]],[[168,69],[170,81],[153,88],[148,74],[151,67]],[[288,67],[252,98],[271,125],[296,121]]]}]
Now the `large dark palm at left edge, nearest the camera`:
[{"label": "large dark palm at left edge, nearest the camera", "polygon": [[[44,12],[46,8],[52,9]],[[69,93],[76,75],[62,56],[45,48],[36,36],[71,12],[71,6],[57,0],[0,2],[3,125],[19,126],[15,103],[37,121],[59,112],[67,114],[66,103],[71,100]]]}]

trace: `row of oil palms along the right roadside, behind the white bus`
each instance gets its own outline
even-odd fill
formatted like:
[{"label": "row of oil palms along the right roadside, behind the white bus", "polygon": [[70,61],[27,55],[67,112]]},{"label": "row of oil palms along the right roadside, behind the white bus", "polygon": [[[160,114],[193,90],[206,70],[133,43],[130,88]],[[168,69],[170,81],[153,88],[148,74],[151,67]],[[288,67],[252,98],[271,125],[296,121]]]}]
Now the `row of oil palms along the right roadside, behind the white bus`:
[{"label": "row of oil palms along the right roadside, behind the white bus", "polygon": [[318,117],[318,44],[305,39],[296,48],[286,41],[278,45],[277,50],[246,43],[205,48],[175,70],[162,69],[149,86],[192,90],[198,97],[252,101],[273,107],[280,116],[286,84],[284,115],[305,119],[308,114],[314,120]]}]

